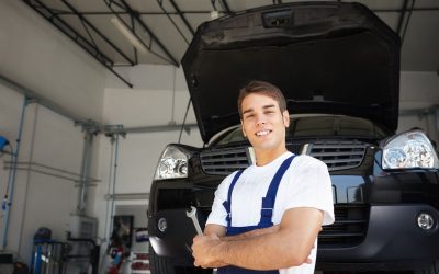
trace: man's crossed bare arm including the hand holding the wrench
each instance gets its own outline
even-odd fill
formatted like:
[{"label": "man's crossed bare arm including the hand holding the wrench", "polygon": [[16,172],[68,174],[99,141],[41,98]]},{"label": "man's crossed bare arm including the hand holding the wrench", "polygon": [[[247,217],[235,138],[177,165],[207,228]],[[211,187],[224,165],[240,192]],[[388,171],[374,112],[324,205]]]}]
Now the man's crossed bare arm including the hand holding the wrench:
[{"label": "man's crossed bare arm including the hand holding the wrench", "polygon": [[225,228],[207,225],[193,239],[194,265],[236,265],[251,270],[279,270],[308,262],[323,224],[323,212],[311,207],[288,209],[281,224],[226,237]]}]

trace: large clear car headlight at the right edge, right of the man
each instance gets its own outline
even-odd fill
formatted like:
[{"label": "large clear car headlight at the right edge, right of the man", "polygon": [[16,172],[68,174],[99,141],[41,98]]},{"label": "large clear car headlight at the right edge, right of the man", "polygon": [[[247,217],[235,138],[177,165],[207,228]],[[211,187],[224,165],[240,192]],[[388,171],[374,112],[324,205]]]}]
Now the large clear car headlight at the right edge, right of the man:
[{"label": "large clear car headlight at the right edge, right of the man", "polygon": [[386,141],[383,169],[438,169],[438,156],[421,130],[410,130]]}]

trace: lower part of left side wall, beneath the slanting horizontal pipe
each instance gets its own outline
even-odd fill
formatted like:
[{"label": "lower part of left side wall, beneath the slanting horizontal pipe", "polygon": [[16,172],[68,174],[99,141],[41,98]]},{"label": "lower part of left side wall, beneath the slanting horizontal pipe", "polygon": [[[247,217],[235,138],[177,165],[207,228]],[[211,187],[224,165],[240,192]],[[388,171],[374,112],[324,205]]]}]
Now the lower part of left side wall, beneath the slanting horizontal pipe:
[{"label": "lower part of left side wall, beneath the slanting horizontal pipe", "polygon": [[[24,99],[16,91],[0,84],[0,96],[11,95],[15,99],[9,101],[9,105],[14,111],[0,109],[0,123],[3,126],[0,135],[10,136],[9,140],[14,152],[20,146],[19,161],[80,173],[82,150],[78,148],[81,148],[83,144],[80,128],[74,127],[72,121],[32,103],[24,107],[23,129],[19,145],[14,140],[19,138],[20,112],[23,110]],[[3,155],[0,160],[4,165],[4,162],[10,161],[11,158],[9,155]],[[30,165],[19,167],[27,168]],[[30,168],[42,172],[64,174],[36,165]],[[0,195],[2,197],[7,194],[10,172],[10,169],[1,170]],[[19,253],[29,263],[33,236],[38,227],[50,228],[54,239],[65,239],[65,231],[69,227],[69,215],[76,210],[77,189],[74,181],[29,170],[16,171],[13,186],[5,248]],[[0,220],[1,235],[3,235],[7,221],[5,212],[2,212]]]}]

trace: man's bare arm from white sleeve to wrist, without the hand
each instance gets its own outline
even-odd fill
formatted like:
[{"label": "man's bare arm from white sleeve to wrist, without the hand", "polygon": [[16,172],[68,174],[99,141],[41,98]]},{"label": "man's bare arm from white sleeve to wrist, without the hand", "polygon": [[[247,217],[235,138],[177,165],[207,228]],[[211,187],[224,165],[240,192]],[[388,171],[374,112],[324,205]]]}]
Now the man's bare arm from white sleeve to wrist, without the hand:
[{"label": "man's bare arm from white sleeve to wrist, without the hand", "polygon": [[222,241],[216,261],[252,270],[279,270],[306,262],[320,230],[323,213],[288,210],[278,231],[236,241]]}]

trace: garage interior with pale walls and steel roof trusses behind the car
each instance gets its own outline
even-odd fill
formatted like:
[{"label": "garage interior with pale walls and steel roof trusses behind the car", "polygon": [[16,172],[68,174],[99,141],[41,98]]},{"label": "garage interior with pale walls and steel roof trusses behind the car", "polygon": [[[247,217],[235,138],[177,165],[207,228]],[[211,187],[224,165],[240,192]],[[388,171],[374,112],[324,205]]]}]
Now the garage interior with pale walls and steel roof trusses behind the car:
[{"label": "garage interior with pale walls and steel roof trusses behind the car", "polygon": [[[0,273],[11,271],[11,255],[30,267],[44,253],[35,239],[47,233],[53,252],[69,242],[79,255],[67,265],[53,262],[47,273],[91,273],[93,249],[105,273],[119,220],[131,227],[131,259],[146,262],[159,156],[171,142],[203,146],[180,66],[196,27],[283,2],[290,1],[1,1]],[[439,142],[439,2],[359,2],[402,38],[397,132],[419,127]],[[128,261],[121,273],[149,273]]]}]

